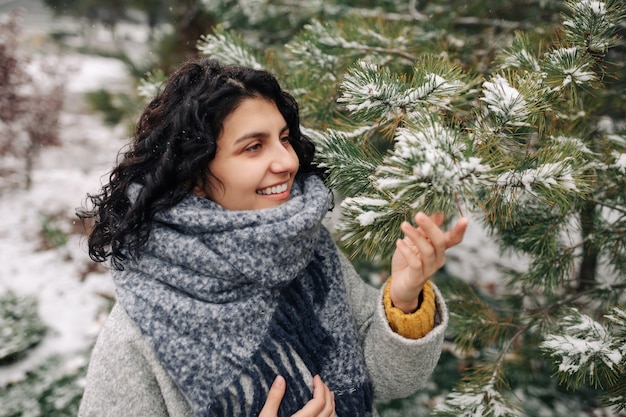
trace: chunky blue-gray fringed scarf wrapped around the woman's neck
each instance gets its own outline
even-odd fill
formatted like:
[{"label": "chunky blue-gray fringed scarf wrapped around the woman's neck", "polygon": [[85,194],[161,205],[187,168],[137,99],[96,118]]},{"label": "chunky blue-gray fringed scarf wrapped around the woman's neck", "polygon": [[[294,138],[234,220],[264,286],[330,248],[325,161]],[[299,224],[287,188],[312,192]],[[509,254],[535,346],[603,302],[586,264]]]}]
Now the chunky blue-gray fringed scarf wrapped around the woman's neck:
[{"label": "chunky blue-gray fringed scarf wrapped around the woman's neck", "polygon": [[118,302],[197,416],[258,416],[278,374],[287,381],[279,416],[291,416],[312,396],[302,364],[335,392],[338,416],[372,414],[336,246],[321,223],[328,204],[315,176],[298,176],[288,202],[263,210],[189,195],[155,216],[139,259],[113,271]]}]

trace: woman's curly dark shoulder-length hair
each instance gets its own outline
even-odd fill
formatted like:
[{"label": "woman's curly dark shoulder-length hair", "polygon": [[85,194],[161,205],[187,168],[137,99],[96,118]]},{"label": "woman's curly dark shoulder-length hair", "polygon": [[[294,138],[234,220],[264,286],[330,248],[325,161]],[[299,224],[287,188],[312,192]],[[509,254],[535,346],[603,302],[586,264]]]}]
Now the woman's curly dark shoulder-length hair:
[{"label": "woman's curly dark shoulder-length hair", "polygon": [[[77,210],[85,223],[94,220],[89,256],[109,257],[122,269],[127,256],[139,256],[154,215],[179,203],[205,184],[224,119],[245,99],[262,97],[285,118],[290,142],[300,161],[299,173],[323,172],[313,162],[315,146],[300,131],[298,104],[276,78],[262,70],[222,65],[209,58],[183,63],[141,114],[131,143],[99,194],[87,196],[92,208]],[[128,188],[142,185],[131,204]]]}]

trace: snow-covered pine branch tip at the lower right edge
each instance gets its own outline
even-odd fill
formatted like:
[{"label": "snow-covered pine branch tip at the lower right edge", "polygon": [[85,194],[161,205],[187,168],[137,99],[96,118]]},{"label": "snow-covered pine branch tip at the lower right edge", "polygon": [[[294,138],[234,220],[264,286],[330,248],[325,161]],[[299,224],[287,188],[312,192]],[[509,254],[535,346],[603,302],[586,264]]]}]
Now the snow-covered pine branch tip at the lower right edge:
[{"label": "snow-covered pine branch tip at the lower right edge", "polygon": [[[606,317],[626,328],[623,310],[614,308]],[[540,348],[554,358],[562,379],[574,386],[587,378],[594,386],[610,384],[624,372],[626,340],[613,337],[609,329],[575,308],[545,337]]]}]

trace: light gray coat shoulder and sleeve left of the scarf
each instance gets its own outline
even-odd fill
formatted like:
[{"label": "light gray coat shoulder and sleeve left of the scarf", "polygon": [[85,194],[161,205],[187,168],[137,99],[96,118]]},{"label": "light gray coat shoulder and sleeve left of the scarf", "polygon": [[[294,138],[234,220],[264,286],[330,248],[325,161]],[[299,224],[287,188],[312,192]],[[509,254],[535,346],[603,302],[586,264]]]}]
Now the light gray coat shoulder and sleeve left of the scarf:
[{"label": "light gray coat shoulder and sleeve left of the scarf", "polygon": [[126,312],[113,307],[94,346],[79,417],[193,413]]}]

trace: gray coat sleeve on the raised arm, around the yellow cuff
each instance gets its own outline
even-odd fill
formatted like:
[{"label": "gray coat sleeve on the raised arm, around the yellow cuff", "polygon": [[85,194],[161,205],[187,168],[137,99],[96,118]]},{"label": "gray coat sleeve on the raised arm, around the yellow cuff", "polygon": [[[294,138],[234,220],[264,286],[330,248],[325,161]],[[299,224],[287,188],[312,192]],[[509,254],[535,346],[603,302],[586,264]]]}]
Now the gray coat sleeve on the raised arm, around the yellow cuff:
[{"label": "gray coat sleeve on the raised arm, around the yellow cuff", "polygon": [[407,339],[389,326],[383,289],[366,284],[350,261],[339,253],[348,303],[355,318],[365,361],[377,400],[407,397],[422,388],[432,374],[443,346],[448,310],[435,291],[435,326],[420,339]]}]

